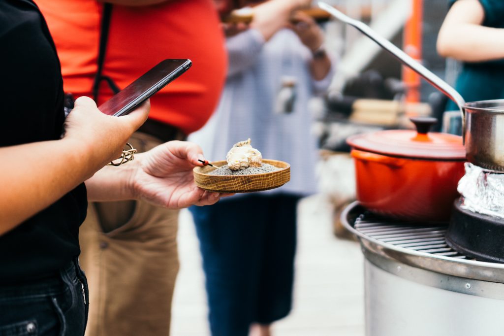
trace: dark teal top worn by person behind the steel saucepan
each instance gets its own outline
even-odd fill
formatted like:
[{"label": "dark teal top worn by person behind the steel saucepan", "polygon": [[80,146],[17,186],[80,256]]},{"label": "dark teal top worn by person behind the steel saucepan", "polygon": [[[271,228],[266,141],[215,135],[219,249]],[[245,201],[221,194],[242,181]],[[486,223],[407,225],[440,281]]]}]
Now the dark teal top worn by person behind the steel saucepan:
[{"label": "dark teal top worn by person behind the steel saucepan", "polygon": [[[450,6],[456,0],[450,0]],[[482,26],[504,28],[504,0],[479,0],[485,13]],[[495,41],[504,43],[504,41]],[[477,50],[475,50],[477,52]],[[504,98],[504,59],[480,63],[464,63],[455,89],[465,101]],[[459,109],[453,101],[447,110]]]}]

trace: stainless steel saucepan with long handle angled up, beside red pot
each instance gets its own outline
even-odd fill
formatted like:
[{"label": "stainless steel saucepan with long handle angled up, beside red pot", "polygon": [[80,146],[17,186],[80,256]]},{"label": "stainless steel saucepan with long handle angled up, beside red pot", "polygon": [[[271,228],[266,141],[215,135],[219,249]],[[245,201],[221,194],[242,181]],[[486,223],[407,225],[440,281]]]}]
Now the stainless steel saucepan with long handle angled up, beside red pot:
[{"label": "stainless steel saucepan with long handle angled up, beside red pot", "polygon": [[413,60],[390,41],[376,34],[364,23],[349,18],[323,2],[319,2],[319,7],[338,20],[357,28],[452,99],[459,106],[462,114],[462,135],[467,159],[484,169],[504,172],[504,99],[466,103],[460,93],[448,83]]}]

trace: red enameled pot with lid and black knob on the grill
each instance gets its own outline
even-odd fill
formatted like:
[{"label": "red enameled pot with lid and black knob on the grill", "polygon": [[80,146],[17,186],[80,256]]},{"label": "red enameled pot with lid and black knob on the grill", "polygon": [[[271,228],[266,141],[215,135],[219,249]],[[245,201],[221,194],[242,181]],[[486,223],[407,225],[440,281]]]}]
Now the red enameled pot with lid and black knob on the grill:
[{"label": "red enameled pot with lid and black knob on the grill", "polygon": [[357,200],[373,212],[407,220],[445,221],[464,176],[462,137],[428,132],[435,118],[411,118],[417,130],[347,139],[355,161]]}]

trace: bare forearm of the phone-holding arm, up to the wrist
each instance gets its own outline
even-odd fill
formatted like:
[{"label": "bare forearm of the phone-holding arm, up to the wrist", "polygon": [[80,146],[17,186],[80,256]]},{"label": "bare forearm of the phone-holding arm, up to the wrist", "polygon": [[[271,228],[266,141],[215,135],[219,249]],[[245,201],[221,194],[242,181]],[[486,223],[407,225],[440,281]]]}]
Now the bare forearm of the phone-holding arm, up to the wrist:
[{"label": "bare forearm of the phone-holding arm, up to the wrist", "polygon": [[0,235],[93,174],[95,167],[82,147],[65,139],[0,148]]}]

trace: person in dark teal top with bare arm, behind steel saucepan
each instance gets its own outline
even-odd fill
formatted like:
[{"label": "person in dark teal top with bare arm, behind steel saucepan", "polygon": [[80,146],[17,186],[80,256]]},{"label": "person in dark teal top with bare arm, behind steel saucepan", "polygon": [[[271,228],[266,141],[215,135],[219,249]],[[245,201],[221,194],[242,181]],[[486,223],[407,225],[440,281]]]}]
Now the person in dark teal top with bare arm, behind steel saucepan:
[{"label": "person in dark teal top with bare arm, behind steel saucepan", "polygon": [[[504,98],[504,1],[450,0],[437,37],[443,57],[463,62],[455,89],[466,101]],[[458,110],[451,100],[447,110]]]}]

